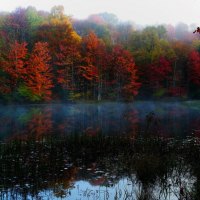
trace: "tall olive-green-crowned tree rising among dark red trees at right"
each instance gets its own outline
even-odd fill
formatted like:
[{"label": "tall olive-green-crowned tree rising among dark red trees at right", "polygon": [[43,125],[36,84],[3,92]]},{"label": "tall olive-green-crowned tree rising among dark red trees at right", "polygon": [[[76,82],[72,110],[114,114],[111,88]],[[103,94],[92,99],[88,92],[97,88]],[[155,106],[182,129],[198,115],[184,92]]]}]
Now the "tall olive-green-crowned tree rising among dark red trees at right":
[{"label": "tall olive-green-crowned tree rising among dark red trees at right", "polygon": [[[171,62],[175,57],[174,50],[166,38],[166,29],[163,26],[147,27],[140,32],[132,32],[128,48],[134,55],[138,66],[139,81],[142,83],[140,89],[141,97],[149,97],[153,93],[155,93],[154,95],[162,96],[166,93],[166,87],[161,87],[163,85],[161,82],[163,81],[154,80],[160,70],[160,59],[165,58],[167,62]],[[169,80],[169,77],[166,77],[166,79]],[[156,85],[154,85],[155,82]]]}]

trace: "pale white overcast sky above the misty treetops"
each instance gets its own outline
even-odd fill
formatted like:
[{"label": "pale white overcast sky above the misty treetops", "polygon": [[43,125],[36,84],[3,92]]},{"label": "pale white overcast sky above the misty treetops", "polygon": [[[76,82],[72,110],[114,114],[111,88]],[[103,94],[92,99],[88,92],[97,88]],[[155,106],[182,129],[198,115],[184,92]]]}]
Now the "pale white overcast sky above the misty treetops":
[{"label": "pale white overcast sky above the misty treetops", "polygon": [[0,0],[0,11],[34,6],[50,11],[54,5],[63,5],[65,13],[75,18],[86,18],[100,12],[114,13],[121,20],[137,24],[200,24],[200,0]]}]

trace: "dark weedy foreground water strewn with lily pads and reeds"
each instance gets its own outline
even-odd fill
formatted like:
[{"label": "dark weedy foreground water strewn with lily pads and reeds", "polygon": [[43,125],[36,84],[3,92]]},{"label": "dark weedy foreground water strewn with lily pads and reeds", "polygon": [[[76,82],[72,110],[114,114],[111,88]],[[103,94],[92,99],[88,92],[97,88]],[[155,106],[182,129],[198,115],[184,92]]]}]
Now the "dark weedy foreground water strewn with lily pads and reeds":
[{"label": "dark weedy foreground water strewn with lily pads and reeds", "polygon": [[133,141],[102,135],[1,144],[1,195],[36,197],[47,190],[55,197],[66,197],[77,180],[107,186],[109,193],[109,188],[128,178],[131,186],[120,188],[118,197],[195,198],[200,187],[199,144],[197,138]]}]

